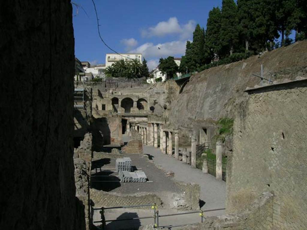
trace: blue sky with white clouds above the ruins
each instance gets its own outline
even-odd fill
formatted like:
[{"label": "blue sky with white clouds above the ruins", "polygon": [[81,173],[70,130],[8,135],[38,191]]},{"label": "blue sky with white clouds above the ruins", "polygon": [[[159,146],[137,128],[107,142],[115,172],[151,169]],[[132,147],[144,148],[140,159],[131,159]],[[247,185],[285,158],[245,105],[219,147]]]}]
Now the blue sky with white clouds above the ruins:
[{"label": "blue sky with white clouds above the ruins", "polygon": [[[91,0],[73,0],[75,55],[91,64],[105,63],[111,53],[98,36],[96,16]],[[196,24],[206,26],[208,13],[221,0],[95,0],[100,32],[105,42],[117,52],[140,52],[150,69],[159,58],[181,57],[185,43],[192,40]],[[158,49],[157,47],[160,47]]]}]

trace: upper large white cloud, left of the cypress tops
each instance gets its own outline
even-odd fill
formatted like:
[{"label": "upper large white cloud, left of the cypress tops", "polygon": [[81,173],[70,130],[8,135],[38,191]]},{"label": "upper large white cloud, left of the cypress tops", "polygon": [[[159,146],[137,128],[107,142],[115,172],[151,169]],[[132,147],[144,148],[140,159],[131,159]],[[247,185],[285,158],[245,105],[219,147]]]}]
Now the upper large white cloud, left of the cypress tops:
[{"label": "upper large white cloud, left of the cypress tops", "polygon": [[176,17],[170,17],[168,21],[161,21],[156,26],[142,30],[143,37],[165,36],[168,34],[179,34],[181,39],[192,37],[196,26],[195,21],[190,20],[187,24],[180,25]]}]

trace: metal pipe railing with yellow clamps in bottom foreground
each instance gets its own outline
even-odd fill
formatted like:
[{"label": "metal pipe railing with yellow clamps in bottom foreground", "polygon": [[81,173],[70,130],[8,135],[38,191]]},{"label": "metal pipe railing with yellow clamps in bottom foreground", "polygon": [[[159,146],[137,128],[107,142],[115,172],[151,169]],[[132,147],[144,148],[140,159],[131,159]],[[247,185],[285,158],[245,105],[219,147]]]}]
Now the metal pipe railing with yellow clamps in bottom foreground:
[{"label": "metal pipe railing with yellow clamps in bottom foreground", "polygon": [[[151,209],[153,209],[153,216],[146,216],[146,217],[131,217],[131,218],[125,218],[125,219],[115,219],[115,220],[106,220],[104,217],[104,211],[107,209],[120,209],[120,208],[136,208],[136,207],[147,207],[151,206]],[[175,227],[181,227],[185,225],[190,225],[190,224],[198,224],[198,223],[203,223],[204,222],[204,213],[205,212],[212,212],[212,211],[219,211],[219,210],[225,210],[225,208],[220,208],[220,209],[208,209],[208,210],[199,210],[199,211],[192,211],[192,212],[185,212],[185,213],[173,213],[173,214],[165,214],[165,215],[159,215],[159,210],[158,206],[156,203],[153,204],[146,204],[146,205],[130,205],[130,206],[117,206],[117,207],[101,207],[101,208],[91,208],[92,213],[94,213],[94,210],[100,210],[100,215],[101,215],[101,220],[100,221],[93,221],[93,223],[102,223],[101,227],[102,230],[106,228],[106,223],[107,222],[116,222],[116,221],[134,221],[134,220],[141,220],[141,219],[149,219],[153,218],[153,227],[157,229],[164,229],[164,228],[175,228]],[[188,224],[179,224],[179,225],[165,225],[165,226],[160,226],[159,225],[159,217],[170,217],[170,216],[179,216],[179,215],[187,215],[187,214],[193,214],[193,213],[199,213],[200,216],[200,222],[196,223],[188,223]]]}]

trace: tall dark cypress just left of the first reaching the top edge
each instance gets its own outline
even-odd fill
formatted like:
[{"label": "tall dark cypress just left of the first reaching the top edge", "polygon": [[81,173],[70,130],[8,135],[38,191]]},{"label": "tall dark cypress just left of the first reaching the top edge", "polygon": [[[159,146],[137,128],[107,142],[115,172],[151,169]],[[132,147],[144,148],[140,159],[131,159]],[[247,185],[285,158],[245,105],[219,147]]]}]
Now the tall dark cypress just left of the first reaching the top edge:
[{"label": "tall dark cypress just left of the first reaching the top edge", "polygon": [[209,56],[211,60],[214,59],[214,55],[220,55],[220,28],[221,11],[220,8],[213,7],[213,9],[209,12],[209,17],[207,20],[207,29],[205,34],[205,51],[207,53],[206,56]]}]

